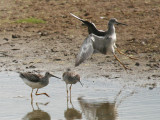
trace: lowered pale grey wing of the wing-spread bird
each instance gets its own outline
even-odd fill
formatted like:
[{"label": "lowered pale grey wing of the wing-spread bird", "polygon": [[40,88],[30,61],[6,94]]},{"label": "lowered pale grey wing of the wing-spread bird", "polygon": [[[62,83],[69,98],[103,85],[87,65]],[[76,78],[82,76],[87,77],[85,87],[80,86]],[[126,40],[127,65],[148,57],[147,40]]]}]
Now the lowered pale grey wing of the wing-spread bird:
[{"label": "lowered pale grey wing of the wing-spread bird", "polygon": [[80,65],[83,61],[88,59],[94,51],[93,48],[94,37],[90,34],[84,41],[80,48],[80,52],[77,55],[75,66]]}]

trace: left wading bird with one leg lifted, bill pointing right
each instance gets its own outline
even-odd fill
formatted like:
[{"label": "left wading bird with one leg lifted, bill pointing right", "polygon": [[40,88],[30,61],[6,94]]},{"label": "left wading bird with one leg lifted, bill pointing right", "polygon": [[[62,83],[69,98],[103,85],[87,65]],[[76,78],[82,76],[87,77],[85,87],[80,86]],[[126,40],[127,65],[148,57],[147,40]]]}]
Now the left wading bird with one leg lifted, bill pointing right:
[{"label": "left wading bird with one leg lifted, bill pointing right", "polygon": [[38,93],[38,89],[47,86],[49,84],[50,77],[61,79],[57,76],[50,74],[49,72],[46,72],[45,76],[36,75],[32,73],[20,73],[20,77],[23,79],[25,84],[27,84],[28,86],[32,88],[31,99],[33,99],[32,93],[33,93],[33,89],[35,88],[37,88],[35,95],[46,95],[47,97],[49,97],[47,93]]}]

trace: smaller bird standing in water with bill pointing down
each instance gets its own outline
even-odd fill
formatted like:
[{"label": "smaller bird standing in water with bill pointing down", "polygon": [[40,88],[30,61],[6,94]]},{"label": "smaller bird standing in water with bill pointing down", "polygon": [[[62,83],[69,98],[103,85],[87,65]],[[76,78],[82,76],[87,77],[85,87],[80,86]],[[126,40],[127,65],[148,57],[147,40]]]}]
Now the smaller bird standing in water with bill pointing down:
[{"label": "smaller bird standing in water with bill pointing down", "polygon": [[79,74],[71,71],[71,69],[67,69],[67,71],[63,73],[63,80],[66,82],[67,98],[68,98],[68,86],[67,85],[71,84],[71,86],[69,87],[69,89],[70,89],[70,101],[71,101],[72,84],[76,84],[77,82],[80,82],[80,84],[82,85],[82,83],[80,81],[80,76],[79,76]]}]

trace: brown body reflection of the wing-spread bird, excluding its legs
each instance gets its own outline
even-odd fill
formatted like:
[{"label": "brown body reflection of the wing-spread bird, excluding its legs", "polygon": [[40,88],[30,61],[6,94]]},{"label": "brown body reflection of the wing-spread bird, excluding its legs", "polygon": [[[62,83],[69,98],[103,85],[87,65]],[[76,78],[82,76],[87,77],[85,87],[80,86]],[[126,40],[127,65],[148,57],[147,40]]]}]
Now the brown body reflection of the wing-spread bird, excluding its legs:
[{"label": "brown body reflection of the wing-spread bird, excluding its legs", "polygon": [[115,103],[96,103],[78,98],[82,112],[87,120],[116,120]]}]

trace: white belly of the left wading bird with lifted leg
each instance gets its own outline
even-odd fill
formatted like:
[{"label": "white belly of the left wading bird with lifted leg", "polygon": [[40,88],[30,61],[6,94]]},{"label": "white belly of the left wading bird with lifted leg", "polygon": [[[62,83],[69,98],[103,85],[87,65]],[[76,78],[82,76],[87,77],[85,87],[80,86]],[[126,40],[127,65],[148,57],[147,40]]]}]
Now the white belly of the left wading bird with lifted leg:
[{"label": "white belly of the left wading bird with lifted leg", "polygon": [[42,88],[45,86],[45,85],[40,84],[40,82],[31,82],[31,81],[28,81],[27,79],[23,79],[23,81],[25,84],[27,84],[28,86],[30,86],[33,89]]}]

